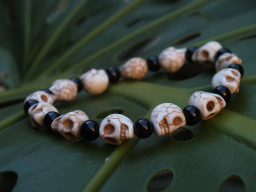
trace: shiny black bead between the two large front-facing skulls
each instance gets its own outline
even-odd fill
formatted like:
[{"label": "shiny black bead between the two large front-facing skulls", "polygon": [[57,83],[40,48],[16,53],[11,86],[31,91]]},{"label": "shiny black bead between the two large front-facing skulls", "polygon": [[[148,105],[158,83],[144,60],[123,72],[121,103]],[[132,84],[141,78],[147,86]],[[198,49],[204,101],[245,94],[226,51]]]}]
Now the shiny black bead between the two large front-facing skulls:
[{"label": "shiny black bead between the two large front-facing skulls", "polygon": [[134,134],[139,138],[147,138],[154,132],[153,124],[147,119],[139,119],[134,123]]}]

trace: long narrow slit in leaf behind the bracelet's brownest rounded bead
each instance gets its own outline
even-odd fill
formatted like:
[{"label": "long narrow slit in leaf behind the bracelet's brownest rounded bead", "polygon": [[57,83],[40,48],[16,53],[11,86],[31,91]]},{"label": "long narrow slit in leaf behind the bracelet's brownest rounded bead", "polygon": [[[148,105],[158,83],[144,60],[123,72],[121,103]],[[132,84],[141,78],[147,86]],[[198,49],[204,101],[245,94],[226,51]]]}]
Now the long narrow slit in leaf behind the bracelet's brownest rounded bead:
[{"label": "long narrow slit in leaf behind the bracelet's brownest rounded bead", "polygon": [[137,43],[136,45],[134,45],[130,48],[127,48],[126,50],[123,50],[120,53],[118,53],[117,59],[118,60],[127,60],[129,58],[132,58],[135,55],[153,47],[160,39],[161,39],[160,36],[147,38],[147,39]]}]

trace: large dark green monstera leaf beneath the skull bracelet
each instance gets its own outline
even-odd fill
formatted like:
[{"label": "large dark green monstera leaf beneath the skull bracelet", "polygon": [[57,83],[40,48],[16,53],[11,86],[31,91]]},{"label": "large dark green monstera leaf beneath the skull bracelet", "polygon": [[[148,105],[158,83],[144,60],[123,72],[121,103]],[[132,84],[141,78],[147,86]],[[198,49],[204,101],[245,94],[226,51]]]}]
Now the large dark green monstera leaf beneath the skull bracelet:
[{"label": "large dark green monstera leaf beneath the skull bracelet", "polygon": [[[0,15],[0,191],[255,190],[255,0],[1,0]],[[24,98],[55,79],[209,40],[236,53],[245,70],[240,91],[210,120],[114,146],[68,142],[34,130],[24,115]],[[186,63],[56,107],[98,122],[111,113],[148,119],[160,103],[184,108],[195,91],[211,92],[214,73]]]}]

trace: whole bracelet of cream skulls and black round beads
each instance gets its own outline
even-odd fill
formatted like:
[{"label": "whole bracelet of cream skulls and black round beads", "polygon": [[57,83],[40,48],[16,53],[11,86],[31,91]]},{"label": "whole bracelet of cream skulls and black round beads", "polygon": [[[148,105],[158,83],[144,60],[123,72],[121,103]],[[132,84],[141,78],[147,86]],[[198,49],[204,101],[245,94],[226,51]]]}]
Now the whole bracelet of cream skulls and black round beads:
[{"label": "whole bracelet of cream skulls and black round beads", "polygon": [[[134,124],[122,114],[111,114],[100,125],[89,120],[80,110],[60,115],[53,106],[54,101],[70,101],[84,89],[93,95],[103,93],[109,83],[116,83],[120,77],[140,80],[147,70],[177,72],[185,61],[212,65],[215,63],[217,73],[212,78],[213,93],[197,91],[189,99],[189,106],[183,110],[172,104],[162,103],[155,107],[150,120],[139,119]],[[166,135],[187,125],[195,125],[200,120],[214,117],[239,91],[241,77],[244,74],[242,61],[235,54],[216,41],[210,41],[200,48],[169,47],[159,57],[151,56],[147,60],[136,57],[128,60],[120,69],[109,67],[107,70],[91,69],[80,78],[59,79],[49,89],[37,91],[24,100],[24,112],[35,128],[46,127],[61,133],[66,139],[84,138],[86,141],[100,138],[109,144],[122,144],[132,139],[134,134],[147,138],[153,132]]]}]

